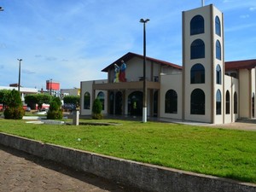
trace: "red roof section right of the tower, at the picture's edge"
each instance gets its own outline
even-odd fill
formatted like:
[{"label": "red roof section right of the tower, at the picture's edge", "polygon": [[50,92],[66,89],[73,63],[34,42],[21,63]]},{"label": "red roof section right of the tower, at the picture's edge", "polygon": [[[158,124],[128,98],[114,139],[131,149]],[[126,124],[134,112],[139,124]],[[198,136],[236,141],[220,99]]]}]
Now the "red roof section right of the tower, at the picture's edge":
[{"label": "red roof section right of the tower, at the picture's edge", "polygon": [[256,67],[256,60],[226,61],[225,70],[251,69]]}]

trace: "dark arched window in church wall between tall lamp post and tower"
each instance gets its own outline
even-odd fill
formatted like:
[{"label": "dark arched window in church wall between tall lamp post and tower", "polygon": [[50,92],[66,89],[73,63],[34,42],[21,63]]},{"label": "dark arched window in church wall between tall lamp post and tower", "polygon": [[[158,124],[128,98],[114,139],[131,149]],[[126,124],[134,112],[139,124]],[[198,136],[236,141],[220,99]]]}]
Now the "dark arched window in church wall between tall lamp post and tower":
[{"label": "dark arched window in church wall between tall lamp post and tower", "polygon": [[177,92],[175,90],[166,92],[166,113],[177,113]]}]

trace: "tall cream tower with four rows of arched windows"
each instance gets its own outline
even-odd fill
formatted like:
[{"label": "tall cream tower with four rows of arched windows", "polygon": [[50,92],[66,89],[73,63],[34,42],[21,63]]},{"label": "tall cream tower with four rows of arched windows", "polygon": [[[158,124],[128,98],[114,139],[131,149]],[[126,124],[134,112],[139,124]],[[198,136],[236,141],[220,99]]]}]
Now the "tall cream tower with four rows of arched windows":
[{"label": "tall cream tower with four rows of arched windows", "polygon": [[223,14],[212,4],[183,11],[183,119],[224,122]]}]

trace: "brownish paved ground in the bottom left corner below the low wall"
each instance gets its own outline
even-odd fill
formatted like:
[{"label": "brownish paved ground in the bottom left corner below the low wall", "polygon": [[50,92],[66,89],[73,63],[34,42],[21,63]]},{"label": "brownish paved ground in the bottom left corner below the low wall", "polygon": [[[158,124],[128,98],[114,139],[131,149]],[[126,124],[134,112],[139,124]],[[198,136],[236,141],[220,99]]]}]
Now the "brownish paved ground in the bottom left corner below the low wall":
[{"label": "brownish paved ground in the bottom left corner below the low wall", "polygon": [[0,192],[139,192],[0,145]]}]

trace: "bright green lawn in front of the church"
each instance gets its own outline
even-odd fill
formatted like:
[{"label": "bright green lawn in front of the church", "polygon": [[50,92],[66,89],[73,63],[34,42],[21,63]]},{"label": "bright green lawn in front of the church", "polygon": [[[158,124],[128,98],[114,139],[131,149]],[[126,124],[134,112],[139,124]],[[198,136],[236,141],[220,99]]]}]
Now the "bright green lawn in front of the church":
[{"label": "bright green lawn in front of the church", "polygon": [[[0,119],[0,132],[128,160],[256,183],[256,132],[169,123],[31,125]],[[87,120],[87,122],[90,120]]]}]

